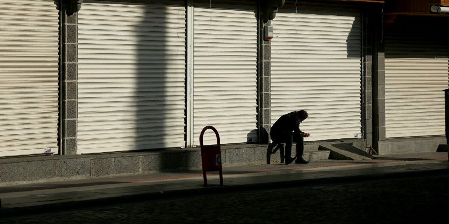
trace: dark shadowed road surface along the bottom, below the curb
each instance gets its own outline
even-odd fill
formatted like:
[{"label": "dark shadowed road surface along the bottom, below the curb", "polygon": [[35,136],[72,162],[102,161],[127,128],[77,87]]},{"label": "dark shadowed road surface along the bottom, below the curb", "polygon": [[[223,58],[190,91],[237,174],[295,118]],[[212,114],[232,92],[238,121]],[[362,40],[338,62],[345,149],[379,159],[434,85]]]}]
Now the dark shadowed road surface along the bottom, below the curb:
[{"label": "dark shadowed road surface along the bottom, below the curb", "polygon": [[449,174],[304,185],[22,214],[0,223],[445,223]]}]

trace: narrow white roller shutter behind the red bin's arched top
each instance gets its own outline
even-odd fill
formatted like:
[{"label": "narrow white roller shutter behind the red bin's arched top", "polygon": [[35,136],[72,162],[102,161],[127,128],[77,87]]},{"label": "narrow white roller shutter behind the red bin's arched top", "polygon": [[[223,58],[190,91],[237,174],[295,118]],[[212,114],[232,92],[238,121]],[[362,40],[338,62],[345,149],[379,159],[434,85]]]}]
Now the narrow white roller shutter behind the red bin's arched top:
[{"label": "narrow white roller shutter behind the red bin's arched top", "polygon": [[[214,126],[222,144],[257,141],[257,20],[254,2],[195,2],[194,142]],[[205,144],[216,143],[211,130]]]}]

